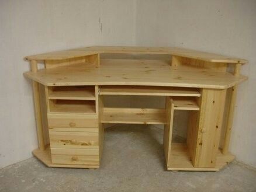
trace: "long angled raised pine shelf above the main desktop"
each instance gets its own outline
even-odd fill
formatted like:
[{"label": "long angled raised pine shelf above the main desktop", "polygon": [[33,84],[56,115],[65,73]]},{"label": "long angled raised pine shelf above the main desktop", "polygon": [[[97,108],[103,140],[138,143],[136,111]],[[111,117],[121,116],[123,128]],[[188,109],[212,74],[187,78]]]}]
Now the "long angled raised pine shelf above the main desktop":
[{"label": "long angled raised pine shelf above the main desktop", "polygon": [[100,53],[128,53],[128,54],[169,54],[180,57],[193,58],[209,62],[247,63],[247,60],[234,57],[226,57],[219,54],[205,53],[177,47],[115,47],[94,46],[75,48],[65,51],[54,51],[25,57],[26,60],[64,60],[68,58],[83,57]]}]

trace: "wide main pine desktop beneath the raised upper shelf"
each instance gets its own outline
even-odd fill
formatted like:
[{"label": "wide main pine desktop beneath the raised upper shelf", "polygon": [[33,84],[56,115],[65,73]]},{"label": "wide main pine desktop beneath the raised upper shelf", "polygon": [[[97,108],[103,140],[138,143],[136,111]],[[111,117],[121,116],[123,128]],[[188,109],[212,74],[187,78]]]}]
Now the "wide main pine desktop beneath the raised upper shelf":
[{"label": "wide main pine desktop beneath the raised upper shelf", "polygon": [[229,72],[181,66],[162,60],[102,59],[101,65],[73,64],[25,72],[25,76],[47,86],[142,85],[227,89],[247,79]]}]

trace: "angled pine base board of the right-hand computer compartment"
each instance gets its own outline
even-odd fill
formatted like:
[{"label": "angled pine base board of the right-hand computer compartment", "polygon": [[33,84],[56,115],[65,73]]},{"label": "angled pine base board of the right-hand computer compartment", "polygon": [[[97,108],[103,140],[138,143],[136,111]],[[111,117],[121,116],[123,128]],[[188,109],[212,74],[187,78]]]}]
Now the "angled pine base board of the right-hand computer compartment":
[{"label": "angled pine base board of the right-hand computer compartment", "polygon": [[230,153],[223,155],[220,150],[216,154],[216,165],[214,167],[194,167],[189,156],[186,144],[172,143],[170,164],[168,170],[185,170],[185,171],[218,171],[234,160]]}]

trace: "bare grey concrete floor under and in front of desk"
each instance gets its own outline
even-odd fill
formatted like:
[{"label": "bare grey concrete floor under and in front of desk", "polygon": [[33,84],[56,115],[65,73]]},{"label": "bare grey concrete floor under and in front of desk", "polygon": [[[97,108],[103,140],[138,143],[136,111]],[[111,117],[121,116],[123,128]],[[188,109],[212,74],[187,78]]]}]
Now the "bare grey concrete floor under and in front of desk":
[{"label": "bare grey concrete floor under and in front of desk", "polygon": [[167,172],[162,130],[115,125],[101,169],[63,169],[30,158],[0,170],[0,191],[256,191],[256,171],[233,162],[220,172]]}]

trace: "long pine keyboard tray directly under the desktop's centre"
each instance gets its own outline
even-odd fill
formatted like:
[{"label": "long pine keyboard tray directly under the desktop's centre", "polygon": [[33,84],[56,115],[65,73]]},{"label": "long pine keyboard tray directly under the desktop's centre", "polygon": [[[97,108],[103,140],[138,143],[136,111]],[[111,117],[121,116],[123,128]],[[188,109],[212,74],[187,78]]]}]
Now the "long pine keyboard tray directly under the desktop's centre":
[{"label": "long pine keyboard tray directly under the desktop's centre", "polygon": [[197,89],[161,86],[101,86],[100,95],[147,95],[200,97]]}]

